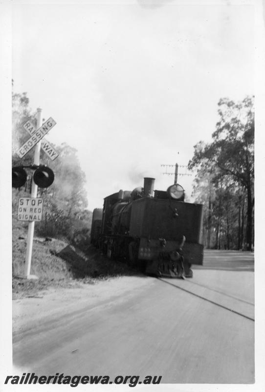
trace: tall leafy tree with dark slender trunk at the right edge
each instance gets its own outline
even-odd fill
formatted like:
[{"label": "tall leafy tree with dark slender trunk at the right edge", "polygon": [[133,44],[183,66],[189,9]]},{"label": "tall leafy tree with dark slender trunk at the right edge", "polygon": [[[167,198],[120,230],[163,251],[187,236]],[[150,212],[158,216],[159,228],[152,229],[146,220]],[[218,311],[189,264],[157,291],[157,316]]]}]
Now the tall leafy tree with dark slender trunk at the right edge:
[{"label": "tall leafy tree with dark slender trunk at the right edge", "polygon": [[213,180],[226,180],[241,186],[246,193],[246,247],[252,249],[254,207],[254,97],[235,103],[220,99],[220,121],[212,134],[213,142],[199,142],[189,169],[208,165],[214,173]]}]

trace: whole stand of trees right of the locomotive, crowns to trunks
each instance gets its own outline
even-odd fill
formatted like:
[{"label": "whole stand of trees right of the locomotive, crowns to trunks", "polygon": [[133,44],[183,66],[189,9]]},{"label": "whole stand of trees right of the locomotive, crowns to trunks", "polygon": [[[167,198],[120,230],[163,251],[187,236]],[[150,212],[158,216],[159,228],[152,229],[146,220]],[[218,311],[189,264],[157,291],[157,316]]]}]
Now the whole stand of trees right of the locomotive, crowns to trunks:
[{"label": "whole stand of trees right of the locomotive, crowns to trunks", "polygon": [[[194,147],[189,169],[198,168],[194,194],[204,198],[205,245],[245,247],[253,244],[254,97],[235,103],[220,99],[219,122],[212,143]],[[246,205],[246,211],[244,206]],[[245,232],[245,233],[244,233]],[[215,235],[215,239],[212,236]],[[214,245],[213,245],[214,242]]]}]

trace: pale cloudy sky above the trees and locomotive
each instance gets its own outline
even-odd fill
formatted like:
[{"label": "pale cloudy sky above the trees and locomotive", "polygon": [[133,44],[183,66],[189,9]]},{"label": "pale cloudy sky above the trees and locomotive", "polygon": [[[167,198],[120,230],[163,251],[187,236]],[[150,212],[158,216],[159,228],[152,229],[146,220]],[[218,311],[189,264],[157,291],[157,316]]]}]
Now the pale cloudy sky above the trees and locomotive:
[{"label": "pale cloudy sky above the trees and locomotive", "polygon": [[[166,190],[161,165],[211,141],[219,99],[254,94],[251,1],[117,3],[12,7],[14,91],[56,121],[48,141],[77,149],[91,211],[145,176]],[[193,178],[178,176],[190,200]]]}]

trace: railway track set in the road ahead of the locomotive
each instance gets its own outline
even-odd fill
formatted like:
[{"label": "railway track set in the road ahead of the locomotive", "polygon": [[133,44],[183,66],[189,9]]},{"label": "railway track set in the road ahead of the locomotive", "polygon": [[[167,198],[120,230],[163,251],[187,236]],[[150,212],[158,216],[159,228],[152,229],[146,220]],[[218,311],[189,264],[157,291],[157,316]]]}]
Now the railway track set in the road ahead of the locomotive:
[{"label": "railway track set in the road ahead of the locomotive", "polygon": [[157,277],[157,279],[245,319],[255,321],[254,303],[225,292],[225,288],[224,291],[220,291],[189,279],[185,279],[184,281],[161,277]]}]

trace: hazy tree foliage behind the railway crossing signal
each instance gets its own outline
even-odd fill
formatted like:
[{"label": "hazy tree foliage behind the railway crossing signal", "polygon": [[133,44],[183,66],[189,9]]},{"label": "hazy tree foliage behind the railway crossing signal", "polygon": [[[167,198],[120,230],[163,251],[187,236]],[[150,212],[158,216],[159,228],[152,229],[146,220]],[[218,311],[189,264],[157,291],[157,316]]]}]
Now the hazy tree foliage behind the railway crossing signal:
[{"label": "hazy tree foliage behind the railway crossing signal", "polygon": [[[36,125],[36,114],[29,109],[29,99],[26,93],[12,93],[12,165],[29,165],[33,163],[34,152],[30,151],[24,158],[20,159],[16,150],[28,138],[22,125],[30,120]],[[40,162],[53,170],[55,179],[53,184],[44,191],[38,190],[38,196],[44,196],[43,221],[36,223],[38,235],[50,237],[67,237],[74,240],[79,230],[87,230],[91,226],[92,213],[86,210],[88,201],[84,189],[85,174],[80,168],[77,157],[77,150],[63,143],[61,146],[54,146],[59,153],[59,157],[51,161],[44,151],[41,151]],[[34,149],[33,149],[34,150]],[[29,170],[28,170],[29,173]],[[17,209],[18,197],[29,196],[32,173],[28,174],[25,186],[19,191],[14,191],[16,197],[13,198],[13,213]],[[25,194],[27,192],[27,194]],[[18,195],[20,193],[20,195]],[[82,224],[80,225],[80,221]],[[86,237],[88,240],[88,236]]]}]

